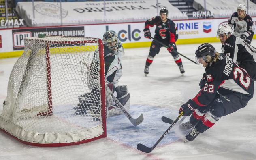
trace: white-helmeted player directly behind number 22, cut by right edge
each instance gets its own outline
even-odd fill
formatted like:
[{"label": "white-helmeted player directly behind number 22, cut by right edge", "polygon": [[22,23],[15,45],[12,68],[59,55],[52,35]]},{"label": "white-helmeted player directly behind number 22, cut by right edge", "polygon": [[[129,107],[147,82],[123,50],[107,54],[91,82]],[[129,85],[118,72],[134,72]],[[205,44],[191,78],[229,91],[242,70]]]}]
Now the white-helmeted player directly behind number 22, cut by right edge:
[{"label": "white-helmeted player directly behind number 22, cut by right edge", "polygon": [[247,44],[243,39],[233,35],[230,26],[218,28],[217,35],[222,43],[222,52],[233,59],[239,67],[245,69],[254,81],[256,80],[256,48]]}]

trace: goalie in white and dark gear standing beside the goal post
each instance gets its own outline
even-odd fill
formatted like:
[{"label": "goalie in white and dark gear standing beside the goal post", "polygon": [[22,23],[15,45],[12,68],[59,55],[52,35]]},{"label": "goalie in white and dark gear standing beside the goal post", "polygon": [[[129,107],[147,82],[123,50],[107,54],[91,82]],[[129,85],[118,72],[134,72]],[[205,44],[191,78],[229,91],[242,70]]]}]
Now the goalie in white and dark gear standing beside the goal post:
[{"label": "goalie in white and dark gear standing beside the goal post", "polygon": [[[104,42],[104,69],[105,69],[105,98],[107,116],[121,114],[122,110],[117,108],[113,101],[112,94],[123,104],[128,110],[130,108],[130,94],[127,86],[118,86],[120,77],[122,76],[121,57],[124,55],[122,44],[118,41],[118,37],[114,32],[107,31],[103,35]],[[87,85],[90,93],[78,96],[79,104],[74,108],[75,115],[90,114],[93,117],[100,118],[100,91],[98,90],[98,73],[100,62],[98,60],[98,50],[94,53],[94,58],[90,64],[87,73]],[[85,64],[86,65],[86,64]],[[109,87],[107,89],[106,87]]]}]

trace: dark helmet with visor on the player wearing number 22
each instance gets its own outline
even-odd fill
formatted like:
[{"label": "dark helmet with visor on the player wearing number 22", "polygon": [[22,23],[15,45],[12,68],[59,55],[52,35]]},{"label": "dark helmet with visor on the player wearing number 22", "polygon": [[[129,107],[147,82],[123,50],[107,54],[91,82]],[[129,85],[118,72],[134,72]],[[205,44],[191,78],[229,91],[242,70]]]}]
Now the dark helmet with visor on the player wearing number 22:
[{"label": "dark helmet with visor on the player wearing number 22", "polygon": [[196,48],[196,63],[199,63],[198,58],[203,58],[203,60],[205,60],[205,62],[207,61],[207,57],[206,56],[211,56],[211,58],[213,56],[215,56],[215,48],[213,47],[213,45],[209,44],[209,43],[204,43],[201,44],[198,48]]}]

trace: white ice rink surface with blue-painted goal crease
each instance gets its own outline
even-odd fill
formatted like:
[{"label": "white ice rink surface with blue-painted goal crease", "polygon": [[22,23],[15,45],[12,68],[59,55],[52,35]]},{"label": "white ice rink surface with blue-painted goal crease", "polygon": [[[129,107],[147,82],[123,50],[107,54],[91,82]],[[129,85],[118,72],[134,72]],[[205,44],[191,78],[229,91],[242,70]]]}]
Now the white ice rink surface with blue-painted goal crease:
[{"label": "white ice rink surface with blue-painted goal crease", "polygon": [[[220,43],[212,43],[221,52]],[[177,45],[178,52],[194,60],[200,44]],[[256,46],[256,41],[252,42]],[[0,132],[0,160],[256,160],[256,98],[245,108],[220,118],[211,129],[201,133],[192,142],[183,142],[184,136],[173,128],[153,152],[137,150],[142,143],[151,147],[169,127],[162,116],[175,119],[181,104],[199,91],[204,73],[181,56],[185,69],[179,72],[166,48],[154,58],[149,75],[144,76],[147,48],[126,49],[122,58],[123,76],[119,85],[128,85],[130,114],[144,121],[134,127],[124,115],[107,119],[107,138],[68,147],[42,148],[25,145]],[[17,58],[0,59],[0,110],[7,94],[7,83]],[[254,89],[255,91],[255,89]],[[185,120],[187,121],[188,118]]]}]

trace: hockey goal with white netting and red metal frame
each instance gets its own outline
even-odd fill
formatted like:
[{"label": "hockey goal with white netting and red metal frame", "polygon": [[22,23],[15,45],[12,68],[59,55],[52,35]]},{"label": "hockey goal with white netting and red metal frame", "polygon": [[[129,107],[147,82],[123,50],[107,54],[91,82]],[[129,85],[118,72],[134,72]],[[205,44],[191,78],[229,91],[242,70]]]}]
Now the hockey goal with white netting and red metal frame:
[{"label": "hockey goal with white netting and red metal frame", "polygon": [[[101,39],[49,35],[28,37],[24,43],[9,77],[0,130],[37,146],[75,145],[106,137]],[[93,61],[98,68],[90,70]],[[93,81],[88,74],[95,76]],[[87,108],[96,117],[74,109],[84,94],[93,99],[87,101]]]}]

